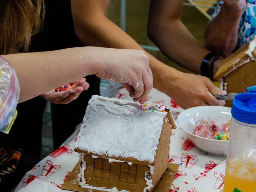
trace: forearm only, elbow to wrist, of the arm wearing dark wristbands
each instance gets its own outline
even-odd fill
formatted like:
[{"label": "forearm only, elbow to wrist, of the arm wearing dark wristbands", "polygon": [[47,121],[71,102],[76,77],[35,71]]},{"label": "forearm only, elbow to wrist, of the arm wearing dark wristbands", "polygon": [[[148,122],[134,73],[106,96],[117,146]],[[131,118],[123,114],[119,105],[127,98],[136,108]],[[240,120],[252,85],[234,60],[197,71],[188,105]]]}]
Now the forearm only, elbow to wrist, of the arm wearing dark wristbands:
[{"label": "forearm only, elbow to wrist, of the arm wearing dark wristbands", "polygon": [[180,20],[151,22],[148,35],[171,60],[200,74],[200,65],[210,51],[201,46]]}]

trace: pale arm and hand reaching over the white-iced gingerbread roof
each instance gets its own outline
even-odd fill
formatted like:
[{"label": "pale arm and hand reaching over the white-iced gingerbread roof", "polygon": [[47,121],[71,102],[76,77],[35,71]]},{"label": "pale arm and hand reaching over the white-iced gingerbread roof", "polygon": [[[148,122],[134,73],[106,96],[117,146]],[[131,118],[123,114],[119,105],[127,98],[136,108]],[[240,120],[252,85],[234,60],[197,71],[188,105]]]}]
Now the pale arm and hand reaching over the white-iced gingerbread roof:
[{"label": "pale arm and hand reaching over the white-iced gingerbread roof", "polygon": [[140,102],[153,86],[148,56],[141,50],[78,47],[2,57],[18,76],[19,102],[92,74],[124,84],[130,97]]}]

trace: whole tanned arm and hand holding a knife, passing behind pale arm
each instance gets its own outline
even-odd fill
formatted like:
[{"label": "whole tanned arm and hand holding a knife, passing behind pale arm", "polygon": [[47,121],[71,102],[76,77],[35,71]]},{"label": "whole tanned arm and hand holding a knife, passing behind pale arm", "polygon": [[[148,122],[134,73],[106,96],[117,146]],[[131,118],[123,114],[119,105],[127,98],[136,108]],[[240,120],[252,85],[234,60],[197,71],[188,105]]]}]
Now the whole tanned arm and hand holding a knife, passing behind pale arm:
[{"label": "whole tanned arm and hand holding a knife, passing behind pale arm", "polygon": [[[110,1],[71,1],[76,35],[84,45],[141,49],[138,43],[106,17]],[[205,77],[182,73],[145,51],[154,87],[172,97],[182,108],[224,105],[212,94],[223,94]],[[225,94],[225,93],[224,93]]]}]

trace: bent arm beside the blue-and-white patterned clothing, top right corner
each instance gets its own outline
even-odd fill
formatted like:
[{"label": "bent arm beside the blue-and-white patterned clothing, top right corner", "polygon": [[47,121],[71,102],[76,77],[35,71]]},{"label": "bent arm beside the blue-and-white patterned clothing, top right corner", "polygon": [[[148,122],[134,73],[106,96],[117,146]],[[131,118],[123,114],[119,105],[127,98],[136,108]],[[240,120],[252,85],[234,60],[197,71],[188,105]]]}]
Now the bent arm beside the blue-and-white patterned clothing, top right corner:
[{"label": "bent arm beside the blue-and-white patterned clothing, top right corner", "polygon": [[205,29],[205,47],[212,52],[227,57],[236,48],[241,16],[246,0],[223,0],[217,16]]}]

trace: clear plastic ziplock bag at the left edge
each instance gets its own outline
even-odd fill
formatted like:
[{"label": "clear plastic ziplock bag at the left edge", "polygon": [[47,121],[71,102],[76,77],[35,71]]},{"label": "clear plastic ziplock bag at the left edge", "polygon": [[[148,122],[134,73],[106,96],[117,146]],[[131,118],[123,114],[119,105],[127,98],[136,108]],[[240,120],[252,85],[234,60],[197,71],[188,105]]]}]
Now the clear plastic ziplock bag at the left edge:
[{"label": "clear plastic ziplock bag at the left edge", "polygon": [[0,56],[0,131],[8,134],[17,116],[20,85],[17,75],[4,58]]}]

